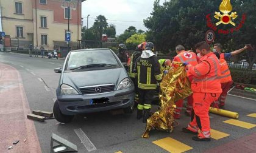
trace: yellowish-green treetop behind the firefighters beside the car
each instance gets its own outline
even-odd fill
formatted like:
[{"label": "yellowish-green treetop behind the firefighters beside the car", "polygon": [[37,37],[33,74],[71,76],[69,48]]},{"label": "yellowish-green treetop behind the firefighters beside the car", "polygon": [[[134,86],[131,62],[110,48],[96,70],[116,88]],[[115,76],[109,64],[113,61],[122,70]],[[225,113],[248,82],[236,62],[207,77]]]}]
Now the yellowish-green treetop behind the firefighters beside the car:
[{"label": "yellowish-green treetop behind the firefighters beside the car", "polygon": [[145,34],[134,34],[130,36],[130,38],[126,39],[127,49],[135,49],[136,46],[143,41],[146,41]]}]

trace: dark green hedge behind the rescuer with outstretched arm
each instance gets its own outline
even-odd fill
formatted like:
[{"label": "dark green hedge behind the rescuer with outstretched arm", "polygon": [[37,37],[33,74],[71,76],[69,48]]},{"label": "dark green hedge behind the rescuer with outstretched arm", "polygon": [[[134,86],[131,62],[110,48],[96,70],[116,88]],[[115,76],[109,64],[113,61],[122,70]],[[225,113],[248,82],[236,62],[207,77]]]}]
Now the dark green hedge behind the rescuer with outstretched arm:
[{"label": "dark green hedge behind the rescuer with outstretched arm", "polygon": [[232,80],[236,83],[256,84],[256,70],[230,69]]}]

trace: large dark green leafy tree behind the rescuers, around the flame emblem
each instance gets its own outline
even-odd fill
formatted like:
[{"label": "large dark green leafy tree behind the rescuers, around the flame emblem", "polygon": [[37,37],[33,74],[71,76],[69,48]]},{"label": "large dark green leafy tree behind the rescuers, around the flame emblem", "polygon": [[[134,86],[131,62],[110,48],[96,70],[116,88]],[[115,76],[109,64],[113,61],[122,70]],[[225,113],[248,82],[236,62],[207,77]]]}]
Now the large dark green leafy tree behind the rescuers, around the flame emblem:
[{"label": "large dark green leafy tree behind the rescuers, around the flame emblem", "polygon": [[[175,50],[177,44],[183,44],[186,49],[191,49],[199,41],[204,41],[207,27],[206,15],[211,13],[212,21],[215,12],[219,12],[221,1],[201,1],[201,0],[172,0],[163,5],[159,0],[154,2],[154,9],[151,16],[144,20],[144,25],[149,29],[146,32],[147,40],[154,42],[158,50],[168,52]],[[243,27],[238,32],[224,35],[215,32],[215,42],[224,46],[225,50],[240,49],[244,44],[251,43],[256,46],[256,9],[255,0],[232,1],[232,12],[238,13],[235,19],[236,26],[241,21],[243,13],[247,19]],[[231,29],[233,25],[218,25],[218,29]],[[256,60],[255,52],[247,52],[250,66]],[[253,55],[253,56],[252,56]],[[240,55],[241,56],[241,55]]]}]

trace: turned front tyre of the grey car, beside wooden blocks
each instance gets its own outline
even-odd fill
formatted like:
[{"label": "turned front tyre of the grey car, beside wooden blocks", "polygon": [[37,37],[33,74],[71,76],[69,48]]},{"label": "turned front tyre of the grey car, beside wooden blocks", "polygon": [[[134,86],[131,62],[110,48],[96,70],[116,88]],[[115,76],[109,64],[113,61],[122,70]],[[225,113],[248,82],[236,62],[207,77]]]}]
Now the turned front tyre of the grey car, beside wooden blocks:
[{"label": "turned front tyre of the grey car, beside wooden blocks", "polygon": [[62,114],[62,112],[60,111],[58,100],[56,100],[55,103],[54,103],[53,113],[54,113],[55,119],[57,121],[59,121],[60,123],[69,123],[74,118],[74,115],[64,115],[64,114]]}]

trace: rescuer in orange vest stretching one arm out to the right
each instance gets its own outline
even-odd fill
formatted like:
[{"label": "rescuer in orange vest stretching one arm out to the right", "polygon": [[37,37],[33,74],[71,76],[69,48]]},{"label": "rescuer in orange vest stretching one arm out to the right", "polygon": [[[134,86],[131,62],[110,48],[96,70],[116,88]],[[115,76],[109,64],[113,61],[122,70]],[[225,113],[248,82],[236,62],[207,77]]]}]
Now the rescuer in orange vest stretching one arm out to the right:
[{"label": "rescuer in orange vest stretching one arm out to the right", "polygon": [[[231,56],[234,56],[234,55],[237,55],[238,53],[241,53],[243,52],[244,50],[246,49],[249,49],[250,46],[244,46],[242,49],[238,49],[238,50],[235,50],[231,53],[222,53],[221,50],[222,50],[222,45],[221,44],[215,44],[214,45],[214,49],[213,49],[213,52],[218,52],[219,55],[220,55],[220,58],[219,60],[221,60],[222,62],[222,65],[226,65],[226,60],[229,60],[231,58]],[[225,64],[226,63],[226,64]],[[225,68],[224,68],[225,67]],[[221,88],[222,88],[222,94],[221,96],[219,97],[219,107],[224,107],[225,106],[225,101],[226,101],[226,97],[227,97],[227,92],[229,91],[230,89],[230,86],[231,84],[233,83],[232,82],[232,78],[231,78],[231,75],[230,75],[230,71],[229,71],[229,67],[227,66],[222,66],[223,69],[226,69],[226,79],[222,79],[221,80]],[[222,77],[225,78],[224,75],[222,75]]]}]

